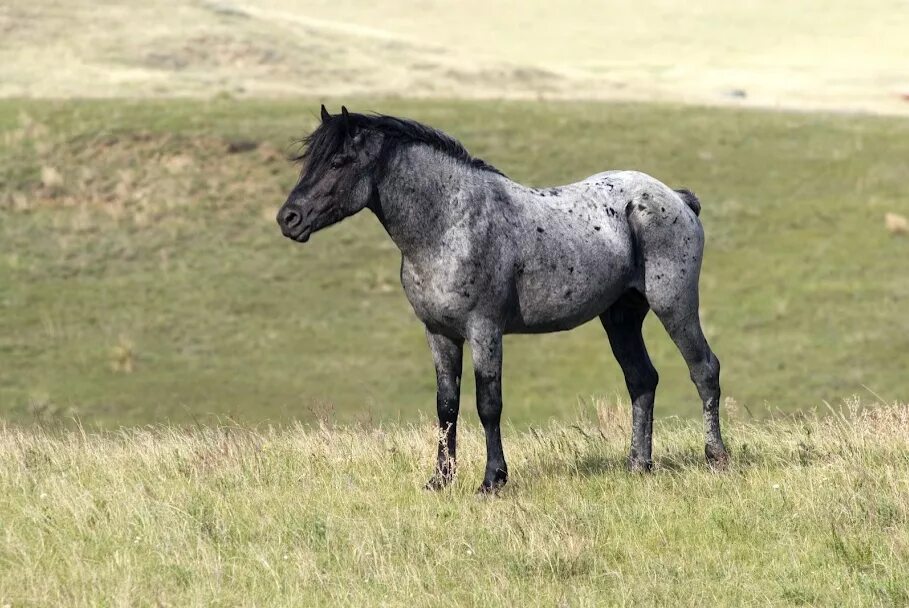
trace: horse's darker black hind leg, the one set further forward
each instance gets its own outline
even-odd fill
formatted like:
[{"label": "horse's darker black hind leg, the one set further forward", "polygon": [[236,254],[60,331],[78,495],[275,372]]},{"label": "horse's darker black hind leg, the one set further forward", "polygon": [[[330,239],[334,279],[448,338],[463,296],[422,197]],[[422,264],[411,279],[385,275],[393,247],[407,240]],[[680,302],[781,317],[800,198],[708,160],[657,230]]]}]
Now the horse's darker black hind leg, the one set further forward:
[{"label": "horse's darker black hind leg, the one set further forward", "polygon": [[650,362],[641,333],[649,310],[644,297],[637,291],[630,291],[600,315],[631,396],[632,431],[628,466],[632,471],[649,471],[653,466],[653,400],[659,375]]}]

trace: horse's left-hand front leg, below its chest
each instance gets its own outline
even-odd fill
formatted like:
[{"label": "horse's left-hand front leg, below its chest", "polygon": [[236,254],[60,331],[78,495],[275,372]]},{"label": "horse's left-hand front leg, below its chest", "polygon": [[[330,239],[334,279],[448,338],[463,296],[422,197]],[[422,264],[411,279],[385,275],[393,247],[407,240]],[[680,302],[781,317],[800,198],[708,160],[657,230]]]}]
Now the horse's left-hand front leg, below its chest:
[{"label": "horse's left-hand front leg, below its chest", "polygon": [[427,482],[426,489],[440,490],[451,483],[455,474],[464,340],[435,334],[429,329],[426,330],[426,337],[436,367],[436,411],[439,414],[439,454],[436,472]]}]

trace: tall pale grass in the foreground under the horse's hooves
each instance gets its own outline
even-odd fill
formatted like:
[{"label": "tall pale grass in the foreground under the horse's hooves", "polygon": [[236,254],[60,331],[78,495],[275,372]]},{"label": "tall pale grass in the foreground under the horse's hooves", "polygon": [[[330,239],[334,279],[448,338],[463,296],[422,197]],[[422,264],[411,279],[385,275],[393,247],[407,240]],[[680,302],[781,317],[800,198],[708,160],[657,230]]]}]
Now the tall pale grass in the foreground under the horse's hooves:
[{"label": "tall pale grass in the foreground under the horse's hooves", "polygon": [[374,429],[0,429],[0,605],[906,605],[909,406],[655,430],[627,408],[506,434],[498,498],[478,429],[452,489],[421,490],[430,422]]}]

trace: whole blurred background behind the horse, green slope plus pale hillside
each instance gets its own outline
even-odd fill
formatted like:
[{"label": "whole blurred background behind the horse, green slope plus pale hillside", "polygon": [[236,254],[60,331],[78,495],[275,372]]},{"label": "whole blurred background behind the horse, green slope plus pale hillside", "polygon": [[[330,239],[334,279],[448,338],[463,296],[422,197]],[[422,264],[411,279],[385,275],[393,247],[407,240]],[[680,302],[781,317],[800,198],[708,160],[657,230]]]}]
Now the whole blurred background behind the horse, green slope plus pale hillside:
[{"label": "whole blurred background behind the horse, green slope plus pale hillside", "polygon": [[[905,400],[909,5],[787,7],[4,3],[0,415],[432,416],[374,218],[303,247],[275,225],[320,102],[441,127],[528,184],[635,168],[691,188],[727,396],[755,416]],[[653,319],[647,339],[658,415],[697,414]],[[624,395],[596,323],[506,350],[518,425]]]}]

